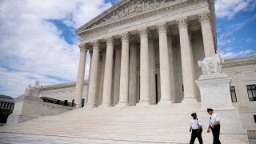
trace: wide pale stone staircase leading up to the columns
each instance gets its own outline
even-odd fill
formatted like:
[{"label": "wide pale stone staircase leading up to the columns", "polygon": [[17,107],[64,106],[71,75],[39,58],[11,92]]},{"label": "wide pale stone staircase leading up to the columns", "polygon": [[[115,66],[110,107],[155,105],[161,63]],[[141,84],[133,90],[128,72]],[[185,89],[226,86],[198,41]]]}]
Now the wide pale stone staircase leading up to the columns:
[{"label": "wide pale stone staircase leading up to the columns", "polygon": [[[179,103],[170,106],[86,107],[36,118],[14,126],[3,126],[0,127],[0,134],[38,134],[106,140],[102,143],[114,140],[117,143],[125,141],[185,144],[190,141],[190,114],[199,108],[200,103]],[[204,119],[202,121],[203,141],[205,144],[210,144],[212,134],[206,133],[207,122]],[[220,139],[222,144],[243,143],[223,134]],[[195,143],[198,143],[197,139]]]}]

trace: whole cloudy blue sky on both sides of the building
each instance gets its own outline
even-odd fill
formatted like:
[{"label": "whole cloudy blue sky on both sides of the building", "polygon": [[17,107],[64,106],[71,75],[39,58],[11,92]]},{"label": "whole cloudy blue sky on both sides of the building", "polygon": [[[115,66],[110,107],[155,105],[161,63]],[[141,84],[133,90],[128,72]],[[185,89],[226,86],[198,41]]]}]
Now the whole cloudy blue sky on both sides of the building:
[{"label": "whole cloudy blue sky on both sides of the building", "polygon": [[[0,94],[17,97],[35,80],[42,86],[76,81],[79,38],[74,30],[117,2],[0,1]],[[223,58],[256,54],[255,7],[255,0],[215,1],[218,53]],[[85,78],[88,71],[89,60]]]}]

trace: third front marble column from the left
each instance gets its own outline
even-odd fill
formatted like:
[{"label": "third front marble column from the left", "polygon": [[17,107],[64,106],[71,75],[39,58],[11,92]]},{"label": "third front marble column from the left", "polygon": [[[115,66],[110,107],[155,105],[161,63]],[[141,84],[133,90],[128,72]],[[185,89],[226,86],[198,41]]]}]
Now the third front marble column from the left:
[{"label": "third front marble column from the left", "polygon": [[106,65],[104,73],[102,106],[111,106],[113,50],[113,38],[106,38]]}]

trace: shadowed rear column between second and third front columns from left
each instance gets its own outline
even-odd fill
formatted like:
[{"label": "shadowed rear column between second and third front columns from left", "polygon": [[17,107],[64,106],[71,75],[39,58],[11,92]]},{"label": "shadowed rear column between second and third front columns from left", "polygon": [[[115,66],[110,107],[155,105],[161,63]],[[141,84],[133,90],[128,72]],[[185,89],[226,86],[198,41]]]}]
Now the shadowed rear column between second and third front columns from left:
[{"label": "shadowed rear column between second and third front columns from left", "polygon": [[106,50],[102,50],[102,68],[101,68],[101,79],[100,79],[99,98],[98,98],[99,105],[102,104],[105,63],[106,63]]}]

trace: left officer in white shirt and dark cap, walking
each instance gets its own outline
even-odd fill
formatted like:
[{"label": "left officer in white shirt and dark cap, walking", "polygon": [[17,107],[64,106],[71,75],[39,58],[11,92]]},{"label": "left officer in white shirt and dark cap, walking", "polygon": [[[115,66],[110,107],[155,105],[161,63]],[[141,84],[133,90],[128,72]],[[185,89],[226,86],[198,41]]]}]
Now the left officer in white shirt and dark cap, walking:
[{"label": "left officer in white shirt and dark cap, walking", "polygon": [[191,116],[193,119],[190,121],[190,131],[192,130],[190,144],[194,144],[195,138],[198,138],[199,143],[202,144],[202,122],[197,118],[196,113],[191,114]]}]

